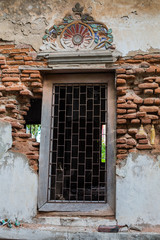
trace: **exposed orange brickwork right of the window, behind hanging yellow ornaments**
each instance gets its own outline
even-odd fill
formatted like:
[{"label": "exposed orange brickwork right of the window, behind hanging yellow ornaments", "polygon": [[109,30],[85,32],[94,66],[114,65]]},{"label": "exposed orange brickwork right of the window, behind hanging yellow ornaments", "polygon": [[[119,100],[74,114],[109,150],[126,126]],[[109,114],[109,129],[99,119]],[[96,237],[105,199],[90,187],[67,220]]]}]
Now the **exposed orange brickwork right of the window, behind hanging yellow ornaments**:
[{"label": "exposed orange brickwork right of the window, behind hanging yellow ornaments", "polygon": [[[117,69],[117,163],[130,152],[159,153],[160,55],[119,59]],[[143,124],[145,134],[138,134]],[[151,145],[151,125],[156,131]]]}]

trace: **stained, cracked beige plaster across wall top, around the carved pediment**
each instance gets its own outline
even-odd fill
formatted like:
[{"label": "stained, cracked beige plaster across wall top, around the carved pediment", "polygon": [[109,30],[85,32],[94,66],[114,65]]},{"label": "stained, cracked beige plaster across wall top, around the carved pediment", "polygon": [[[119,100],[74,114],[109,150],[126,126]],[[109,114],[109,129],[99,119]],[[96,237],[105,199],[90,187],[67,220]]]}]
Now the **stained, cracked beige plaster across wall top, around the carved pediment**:
[{"label": "stained, cracked beige plaster across wall top, around the carved pediment", "polygon": [[[0,38],[31,44],[37,51],[46,28],[72,12],[77,0],[1,0]],[[82,0],[84,12],[112,28],[122,55],[160,49],[160,2],[157,0]]]}]

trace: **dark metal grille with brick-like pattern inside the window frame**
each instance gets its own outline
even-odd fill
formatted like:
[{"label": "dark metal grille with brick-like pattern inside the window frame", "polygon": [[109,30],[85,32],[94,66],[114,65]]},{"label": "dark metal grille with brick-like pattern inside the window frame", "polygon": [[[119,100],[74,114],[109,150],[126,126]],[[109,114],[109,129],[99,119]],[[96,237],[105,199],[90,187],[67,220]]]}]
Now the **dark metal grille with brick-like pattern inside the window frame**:
[{"label": "dark metal grille with brick-like pattern inside the window frame", "polygon": [[107,84],[53,85],[48,201],[106,202]]}]

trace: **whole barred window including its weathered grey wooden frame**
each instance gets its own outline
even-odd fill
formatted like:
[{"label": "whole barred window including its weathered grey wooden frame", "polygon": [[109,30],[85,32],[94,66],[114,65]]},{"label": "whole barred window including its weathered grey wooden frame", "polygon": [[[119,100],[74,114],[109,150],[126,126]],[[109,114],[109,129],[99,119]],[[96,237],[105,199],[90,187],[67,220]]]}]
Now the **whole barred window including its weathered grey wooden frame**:
[{"label": "whole barred window including its weathered grey wooden frame", "polygon": [[[57,74],[44,81],[41,211],[98,208],[111,212],[115,112],[114,105],[111,110],[108,106],[114,104],[113,79],[104,73]],[[108,143],[110,136],[112,144]],[[108,146],[112,147],[108,150]],[[108,181],[108,175],[113,179]]]}]

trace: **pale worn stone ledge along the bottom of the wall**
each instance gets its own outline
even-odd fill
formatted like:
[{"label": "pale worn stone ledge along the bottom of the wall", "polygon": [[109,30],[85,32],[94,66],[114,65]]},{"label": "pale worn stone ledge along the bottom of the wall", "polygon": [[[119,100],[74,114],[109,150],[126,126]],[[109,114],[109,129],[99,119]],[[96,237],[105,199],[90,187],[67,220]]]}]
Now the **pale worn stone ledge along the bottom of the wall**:
[{"label": "pale worn stone ledge along the bottom of the wall", "polygon": [[28,226],[28,228],[0,228],[0,239],[16,239],[16,240],[158,240],[160,232],[126,232],[126,233],[99,233],[96,229],[91,228],[71,228],[50,225],[44,226]]}]

